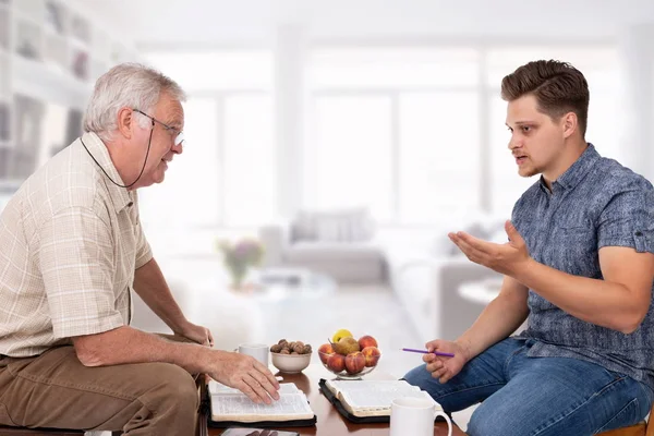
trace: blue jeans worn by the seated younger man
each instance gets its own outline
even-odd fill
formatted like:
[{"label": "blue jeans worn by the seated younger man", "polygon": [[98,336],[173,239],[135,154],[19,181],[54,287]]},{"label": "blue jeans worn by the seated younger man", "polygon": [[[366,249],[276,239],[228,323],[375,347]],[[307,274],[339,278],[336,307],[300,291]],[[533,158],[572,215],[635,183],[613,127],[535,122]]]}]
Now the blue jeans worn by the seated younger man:
[{"label": "blue jeans worn by the seated younger man", "polygon": [[505,339],[444,385],[425,365],[404,378],[448,413],[483,401],[468,424],[472,436],[595,435],[650,412],[654,392],[646,385],[578,359],[528,358],[533,343]]}]

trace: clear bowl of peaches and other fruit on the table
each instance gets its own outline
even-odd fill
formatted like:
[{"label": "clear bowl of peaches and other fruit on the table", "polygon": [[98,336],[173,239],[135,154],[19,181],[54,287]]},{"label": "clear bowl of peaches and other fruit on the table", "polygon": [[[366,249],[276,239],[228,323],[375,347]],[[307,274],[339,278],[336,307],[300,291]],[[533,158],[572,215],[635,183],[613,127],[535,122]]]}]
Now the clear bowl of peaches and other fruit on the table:
[{"label": "clear bowl of peaches and other fruit on the table", "polygon": [[323,366],[337,378],[358,380],[377,366],[382,351],[372,336],[356,339],[349,330],[340,329],[318,348],[318,356]]}]

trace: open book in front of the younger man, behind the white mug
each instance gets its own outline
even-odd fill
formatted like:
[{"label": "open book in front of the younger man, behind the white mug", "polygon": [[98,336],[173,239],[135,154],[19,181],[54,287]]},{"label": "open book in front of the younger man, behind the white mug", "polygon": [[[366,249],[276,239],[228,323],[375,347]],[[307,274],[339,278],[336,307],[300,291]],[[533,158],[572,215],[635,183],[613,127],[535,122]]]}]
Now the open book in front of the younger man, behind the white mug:
[{"label": "open book in front of the younger man, behind the white mug", "polygon": [[400,397],[424,398],[443,409],[427,392],[404,380],[327,380],[325,386],[359,417],[390,416],[390,404]]}]

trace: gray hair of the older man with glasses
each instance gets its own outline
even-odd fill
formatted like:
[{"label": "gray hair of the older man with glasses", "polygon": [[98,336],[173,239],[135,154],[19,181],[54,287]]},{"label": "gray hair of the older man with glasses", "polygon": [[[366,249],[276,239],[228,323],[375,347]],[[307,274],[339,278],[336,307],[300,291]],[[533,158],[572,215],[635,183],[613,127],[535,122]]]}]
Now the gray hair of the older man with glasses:
[{"label": "gray hair of the older man with glasses", "polygon": [[[186,94],[173,80],[159,71],[138,63],[121,63],[98,78],[86,114],[84,131],[94,132],[104,141],[111,141],[117,130],[118,112],[122,108],[135,108],[150,113],[161,93],[173,100],[185,101]],[[140,117],[140,125],[150,121]]]}]

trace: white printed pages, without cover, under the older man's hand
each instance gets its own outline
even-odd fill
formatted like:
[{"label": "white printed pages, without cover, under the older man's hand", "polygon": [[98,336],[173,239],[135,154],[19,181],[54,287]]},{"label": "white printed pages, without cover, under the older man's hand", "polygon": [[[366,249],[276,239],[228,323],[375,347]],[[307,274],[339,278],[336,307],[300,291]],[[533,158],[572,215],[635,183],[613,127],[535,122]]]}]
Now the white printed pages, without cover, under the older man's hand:
[{"label": "white printed pages, without cover, under the older man's hand", "polygon": [[312,419],[314,412],[303,392],[281,393],[271,404],[255,403],[245,395],[211,395],[214,421],[290,421]]}]

